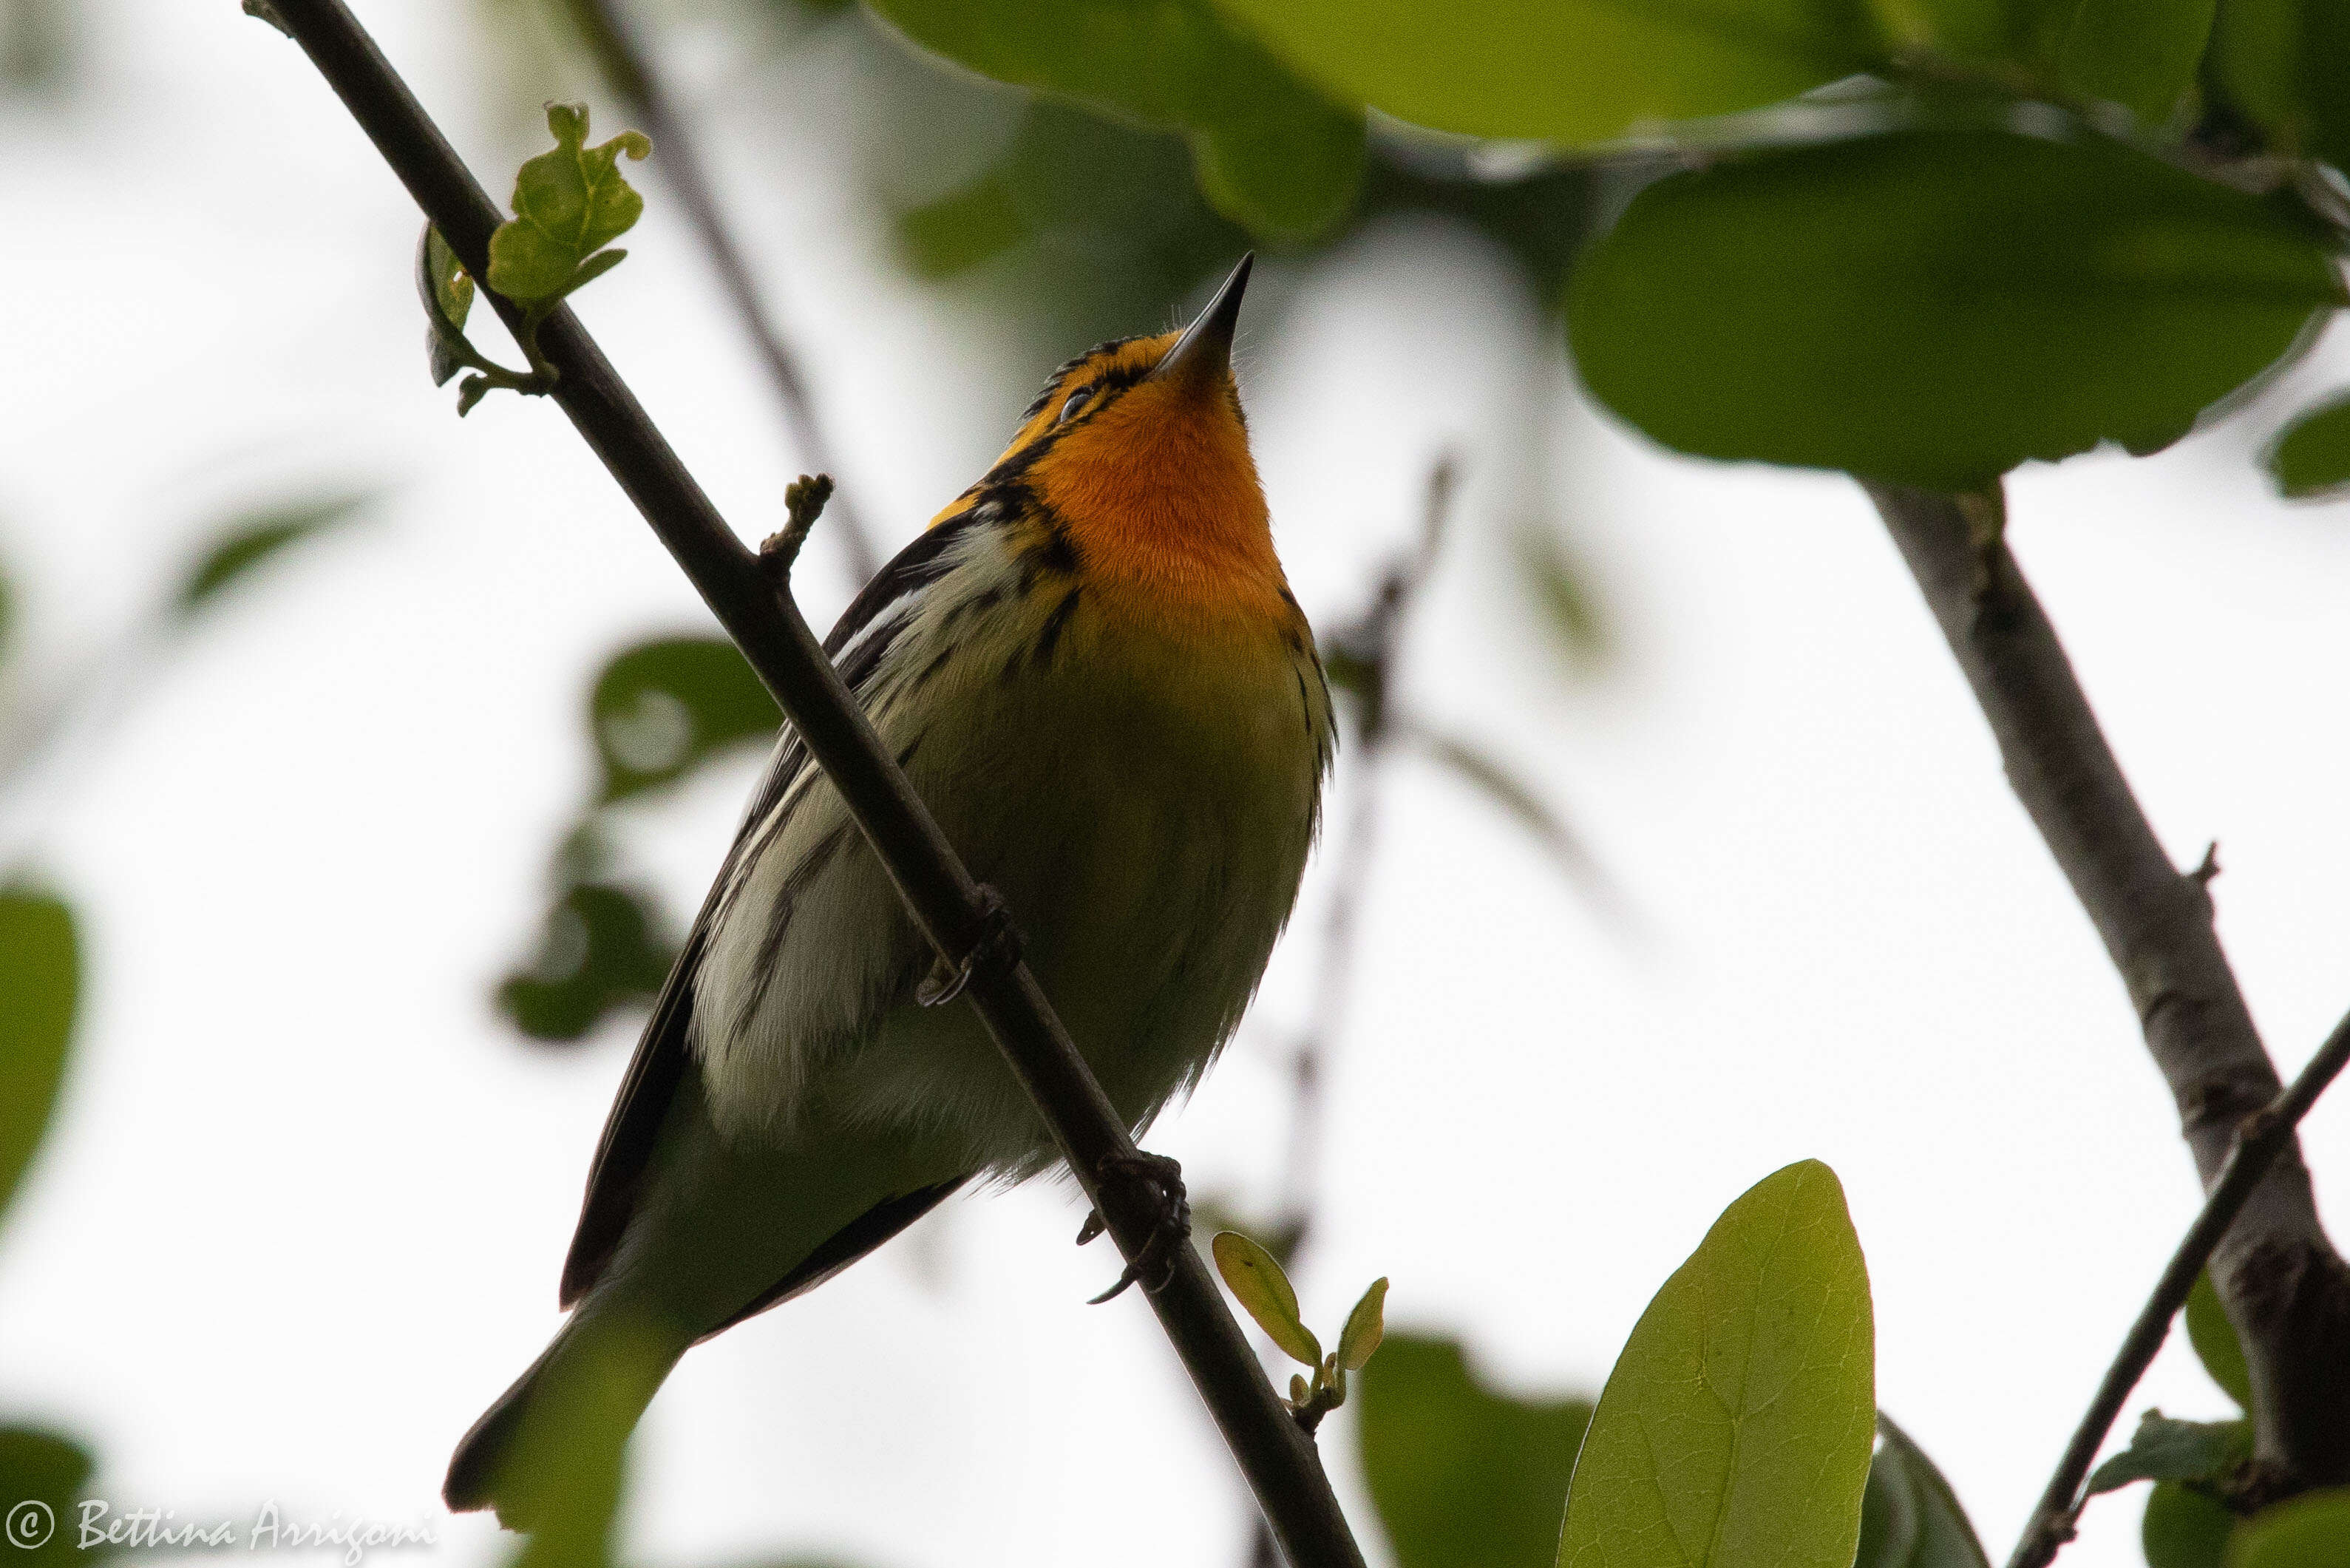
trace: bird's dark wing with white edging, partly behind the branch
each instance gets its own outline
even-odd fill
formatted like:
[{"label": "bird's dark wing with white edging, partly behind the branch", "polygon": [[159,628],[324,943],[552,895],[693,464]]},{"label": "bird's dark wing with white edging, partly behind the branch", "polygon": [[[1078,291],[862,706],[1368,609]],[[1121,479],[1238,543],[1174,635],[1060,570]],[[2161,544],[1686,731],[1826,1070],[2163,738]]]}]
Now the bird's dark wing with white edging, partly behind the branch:
[{"label": "bird's dark wing with white edging, partly behind the branch", "polygon": [[[888,567],[877,571],[848,609],[841,611],[832,635],[825,637],[825,654],[832,658],[851,691],[862,696],[865,686],[881,668],[884,654],[888,654],[895,639],[912,623],[921,592],[952,569],[956,541],[966,538],[975,527],[982,527],[978,517],[973,512],[964,512],[916,536],[914,543],[900,550]],[[580,1204],[580,1222],[571,1234],[571,1251],[564,1258],[564,1279],[557,1293],[564,1307],[576,1302],[590,1286],[595,1286],[597,1279],[604,1276],[613,1251],[620,1246],[620,1237],[627,1232],[630,1218],[637,1213],[637,1201],[644,1197],[646,1173],[653,1164],[653,1145],[658,1143],[660,1126],[670,1114],[670,1100],[677,1095],[677,1084],[693,1065],[693,983],[703,961],[703,950],[710,940],[710,929],[743,872],[750,846],[773,842],[773,832],[768,830],[771,818],[797,804],[792,792],[808,766],[808,748],[801,745],[792,726],[785,724],[783,736],[776,741],[776,755],[768,759],[766,773],[752,792],[750,809],[743,813],[743,825],[736,830],[733,846],[726,851],[726,863],[719,867],[717,882],[712,882],[700,914],[693,917],[693,931],[686,936],[686,945],[677,954],[677,964],[670,966],[670,976],[660,985],[660,997],[653,1001],[653,1018],[646,1023],[644,1037],[637,1041],[637,1053],[630,1058],[627,1074],[620,1079],[620,1093],[611,1105],[611,1114],[604,1119],[604,1135],[597,1140],[595,1161],[588,1166],[588,1199]],[[905,1218],[891,1222],[886,1229],[858,1246],[853,1253],[832,1262],[825,1272],[846,1267],[860,1253],[898,1234],[952,1190],[954,1187],[949,1185],[942,1190],[926,1190],[928,1197],[907,1194],[902,1199],[891,1199],[891,1204],[912,1204],[914,1199],[924,1201],[905,1213]],[[888,1204],[884,1204],[884,1208],[888,1208]],[[851,1229],[858,1229],[860,1225],[862,1220]],[[844,1232],[844,1237],[846,1234],[848,1232]],[[830,1244],[827,1248],[820,1248],[820,1253],[822,1251],[830,1251]],[[808,1262],[815,1262],[815,1258]],[[808,1265],[801,1265],[801,1269],[806,1267]],[[794,1274],[801,1269],[794,1269]],[[787,1279],[776,1286],[778,1293],[773,1293],[771,1300],[761,1300],[754,1309],[771,1307],[790,1291],[806,1288],[820,1276],[822,1274],[815,1274],[797,1284]]]}]

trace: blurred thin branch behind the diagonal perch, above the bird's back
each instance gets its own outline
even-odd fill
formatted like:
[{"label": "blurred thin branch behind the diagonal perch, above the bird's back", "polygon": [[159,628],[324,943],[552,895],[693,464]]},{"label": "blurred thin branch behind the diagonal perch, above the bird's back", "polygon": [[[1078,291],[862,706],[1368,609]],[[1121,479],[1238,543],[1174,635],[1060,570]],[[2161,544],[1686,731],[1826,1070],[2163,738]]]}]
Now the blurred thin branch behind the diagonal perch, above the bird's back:
[{"label": "blurred thin branch behind the diagonal perch, above the bird's back", "polygon": [[[733,303],[736,317],[743,322],[743,336],[750,339],[752,353],[759,355],[759,364],[766,369],[766,378],[776,386],[776,400],[783,404],[783,418],[792,428],[792,442],[799,447],[801,463],[811,470],[839,473],[825,442],[822,421],[815,416],[815,400],[808,395],[808,376],[799,369],[799,360],[792,355],[790,343],[785,343],[776,317],[768,315],[766,301],[759,296],[759,284],[752,280],[743,252],[736,249],[726,219],[719,216],[719,200],[710,188],[710,172],[696,148],[693,134],[686,129],[667,85],[653,68],[653,56],[639,45],[627,16],[620,14],[620,0],[564,0],[564,5],[580,38],[588,42],[588,52],[595,54],[604,82],[627,101],[653,136],[653,146],[660,148],[653,169],[667,179],[679,205],[686,209],[686,219],[703,237],[710,266],[717,268],[719,284]],[[832,501],[830,517],[848,555],[851,585],[862,585],[881,569],[881,552],[872,534],[865,531],[865,522],[851,510],[846,496]]]}]

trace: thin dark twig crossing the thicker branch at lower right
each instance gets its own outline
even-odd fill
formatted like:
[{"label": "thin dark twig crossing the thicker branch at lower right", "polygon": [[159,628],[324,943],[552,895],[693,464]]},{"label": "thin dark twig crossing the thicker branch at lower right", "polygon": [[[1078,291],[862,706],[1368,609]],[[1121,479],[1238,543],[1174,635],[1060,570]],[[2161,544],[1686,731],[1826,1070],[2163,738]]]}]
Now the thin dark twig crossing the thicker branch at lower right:
[{"label": "thin dark twig crossing the thicker branch at lower right", "polygon": [[2007,1559],[2007,1568],[2047,1568],[2059,1547],[2073,1540],[2073,1526],[2087,1505],[2080,1488],[2089,1476],[2089,1465],[2096,1462],[2096,1450],[2106,1446],[2106,1434],[2113,1432],[2113,1420],[2122,1413],[2122,1403],[2129,1401],[2129,1392],[2138,1387],[2146,1368],[2153,1366],[2155,1352],[2162,1349],[2162,1340],[2171,1333],[2171,1321],[2188,1305],[2195,1276],[2211,1262],[2211,1251],[2228,1234],[2235,1215],[2261,1185],[2261,1178],[2268,1175],[2268,1168],[2291,1147],[2294,1128],[2317,1105],[2317,1095],[2326,1091],[2345,1063],[2350,1063],[2350,1018],[2334,1025],[2334,1034],[2317,1048],[2317,1056],[2301,1070],[2291,1088],[2277,1095],[2265,1110],[2247,1117],[2235,1131],[2235,1145],[2228,1152],[2228,1164],[2221,1166],[2211,1197],[2204,1199],[2202,1213],[2195,1215],[2195,1225],[2188,1227],[2188,1234],[2178,1241],[2178,1251],[2171,1253],[2169,1267],[2162,1269],[2162,1279],[2155,1281],[2153,1295],[2138,1309],[2138,1319],[2129,1326],[2129,1338],[2122,1340],[2122,1349],[2106,1371],[2106,1380],[2096,1385],[2096,1399],[2089,1401],[2089,1410],[2080,1418],[2080,1427],[2073,1432],[2056,1474],[2049,1476],[2047,1490],[2040,1493],[2040,1507],[2033,1509],[2030,1523],[2023,1528],[2023,1540],[2016,1542],[2014,1556]]}]

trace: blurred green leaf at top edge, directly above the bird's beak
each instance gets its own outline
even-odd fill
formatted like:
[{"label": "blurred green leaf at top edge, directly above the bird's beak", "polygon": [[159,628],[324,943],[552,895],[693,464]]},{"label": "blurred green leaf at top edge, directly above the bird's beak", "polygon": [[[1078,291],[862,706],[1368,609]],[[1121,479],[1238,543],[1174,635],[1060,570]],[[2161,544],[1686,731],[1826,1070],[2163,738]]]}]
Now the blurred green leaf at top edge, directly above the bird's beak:
[{"label": "blurred green leaf at top edge, directly above the bird's beak", "polygon": [[999,82],[1191,134],[1198,188],[1269,240],[1337,223],[1363,179],[1363,115],[1307,87],[1208,0],[872,0],[907,38]]}]

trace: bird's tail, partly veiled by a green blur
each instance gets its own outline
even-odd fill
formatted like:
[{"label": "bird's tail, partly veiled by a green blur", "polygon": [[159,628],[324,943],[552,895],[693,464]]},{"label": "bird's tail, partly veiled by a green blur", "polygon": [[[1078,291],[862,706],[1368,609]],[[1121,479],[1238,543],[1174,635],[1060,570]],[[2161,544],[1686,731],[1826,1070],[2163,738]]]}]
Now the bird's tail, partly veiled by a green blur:
[{"label": "bird's tail, partly veiled by a green blur", "polygon": [[590,1295],[458,1441],[442,1500],[456,1514],[496,1509],[510,1530],[602,1516],[627,1434],[686,1342],[649,1314]]}]

